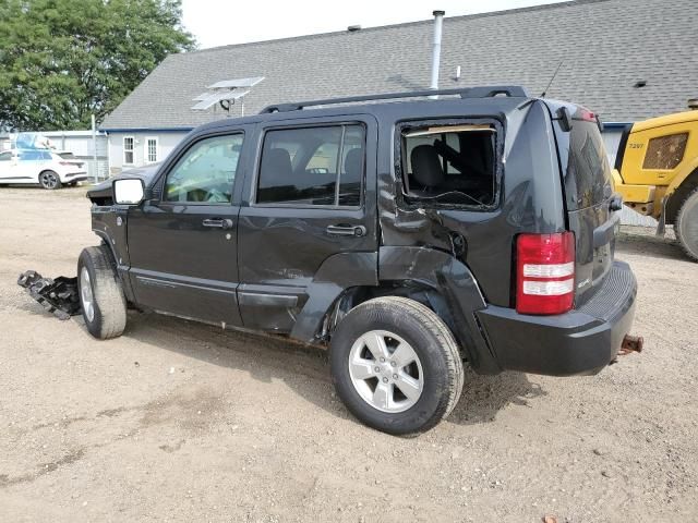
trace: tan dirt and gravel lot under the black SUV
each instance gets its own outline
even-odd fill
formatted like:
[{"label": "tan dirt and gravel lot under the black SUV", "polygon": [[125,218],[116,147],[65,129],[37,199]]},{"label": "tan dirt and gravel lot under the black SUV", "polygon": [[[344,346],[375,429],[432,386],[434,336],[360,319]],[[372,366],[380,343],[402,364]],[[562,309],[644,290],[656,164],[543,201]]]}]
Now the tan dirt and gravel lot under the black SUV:
[{"label": "tan dirt and gravel lot under the black SUV", "polygon": [[698,521],[698,264],[647,231],[646,352],[599,376],[469,373],[418,438],[359,425],[321,350],[134,314],[98,342],[16,285],[74,275],[84,190],[0,187],[0,521]]}]

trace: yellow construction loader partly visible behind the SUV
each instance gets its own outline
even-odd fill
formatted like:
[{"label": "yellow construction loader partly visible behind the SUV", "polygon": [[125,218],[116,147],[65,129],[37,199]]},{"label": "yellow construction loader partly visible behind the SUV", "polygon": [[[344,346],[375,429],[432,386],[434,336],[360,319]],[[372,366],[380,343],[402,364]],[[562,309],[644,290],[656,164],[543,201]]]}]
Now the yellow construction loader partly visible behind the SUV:
[{"label": "yellow construction loader partly visible behind the SUV", "polygon": [[[691,109],[698,100],[689,100]],[[698,110],[652,118],[628,126],[613,171],[625,205],[673,224],[686,254],[698,262]]]}]

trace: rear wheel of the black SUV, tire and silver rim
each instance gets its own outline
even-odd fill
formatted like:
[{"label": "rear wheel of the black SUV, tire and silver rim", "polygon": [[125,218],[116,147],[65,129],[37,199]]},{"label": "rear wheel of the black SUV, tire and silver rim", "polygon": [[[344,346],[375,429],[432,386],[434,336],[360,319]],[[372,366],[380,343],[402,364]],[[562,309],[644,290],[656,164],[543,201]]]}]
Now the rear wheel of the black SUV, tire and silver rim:
[{"label": "rear wheel of the black SUV, tire and silver rim", "polygon": [[429,430],[458,402],[464,370],[448,327],[406,297],[352,308],[330,343],[332,377],[349,411],[370,427],[404,435]]}]

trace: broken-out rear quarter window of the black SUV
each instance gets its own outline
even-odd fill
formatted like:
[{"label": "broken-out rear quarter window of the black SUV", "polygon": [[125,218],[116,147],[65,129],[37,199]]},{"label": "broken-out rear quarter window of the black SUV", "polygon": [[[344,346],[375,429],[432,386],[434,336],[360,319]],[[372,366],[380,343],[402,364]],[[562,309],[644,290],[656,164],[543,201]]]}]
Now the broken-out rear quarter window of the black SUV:
[{"label": "broken-out rear quarter window of the black SUV", "polygon": [[495,130],[456,124],[404,127],[401,172],[408,202],[494,204]]}]

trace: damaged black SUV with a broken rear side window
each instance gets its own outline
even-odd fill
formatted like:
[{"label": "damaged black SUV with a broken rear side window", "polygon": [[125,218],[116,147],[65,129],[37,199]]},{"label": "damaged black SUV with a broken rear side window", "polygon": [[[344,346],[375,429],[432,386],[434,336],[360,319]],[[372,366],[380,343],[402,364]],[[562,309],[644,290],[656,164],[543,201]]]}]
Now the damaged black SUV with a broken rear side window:
[{"label": "damaged black SUV with a broken rear side window", "polygon": [[133,307],[327,343],[339,397],[393,434],[449,414],[464,362],[594,374],[633,323],[599,120],[521,87],[269,107],[88,197],[93,336]]}]

